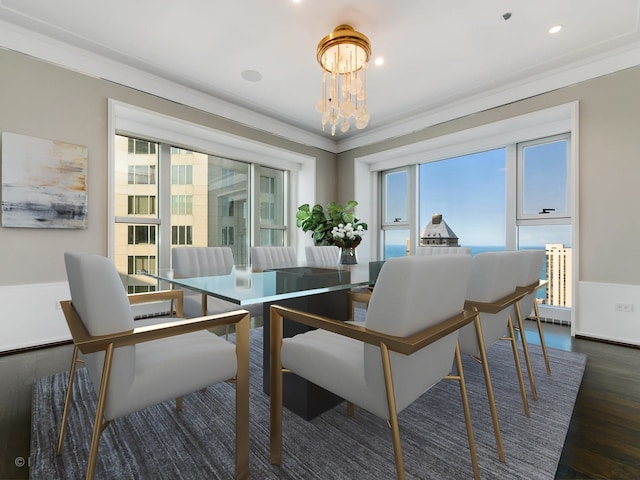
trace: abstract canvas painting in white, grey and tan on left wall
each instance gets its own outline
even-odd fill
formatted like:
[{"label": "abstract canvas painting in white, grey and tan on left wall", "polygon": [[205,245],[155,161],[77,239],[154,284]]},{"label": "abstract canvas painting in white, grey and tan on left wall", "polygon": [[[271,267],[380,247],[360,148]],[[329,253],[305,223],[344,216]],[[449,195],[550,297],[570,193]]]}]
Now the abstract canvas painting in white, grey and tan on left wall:
[{"label": "abstract canvas painting in white, grey and tan on left wall", "polygon": [[2,226],[86,228],[88,149],[2,133]]}]

